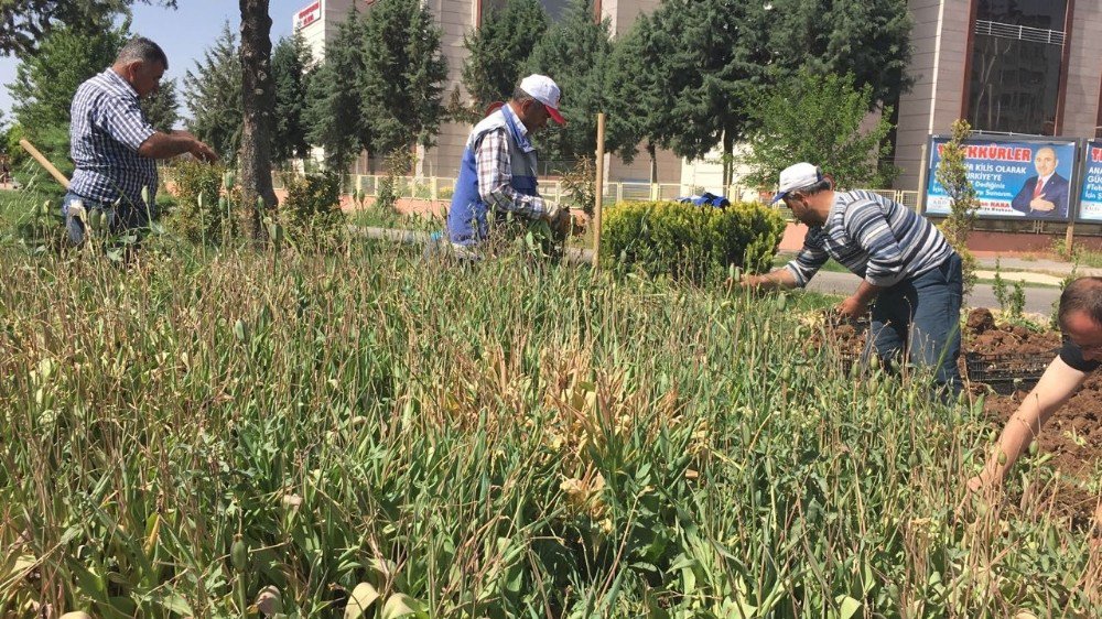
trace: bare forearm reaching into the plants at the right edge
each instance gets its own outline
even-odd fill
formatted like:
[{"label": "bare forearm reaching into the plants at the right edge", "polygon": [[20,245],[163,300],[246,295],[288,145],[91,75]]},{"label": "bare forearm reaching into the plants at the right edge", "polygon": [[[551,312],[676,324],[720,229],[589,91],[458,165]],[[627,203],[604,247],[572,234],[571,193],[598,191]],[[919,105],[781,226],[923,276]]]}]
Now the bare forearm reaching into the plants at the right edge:
[{"label": "bare forearm reaching into the plants at the right edge", "polygon": [[1026,395],[1022,405],[1006,422],[995,452],[987,458],[983,471],[969,480],[969,488],[979,490],[986,486],[1002,484],[1006,478],[1006,471],[1014,466],[1014,463],[1022,456],[1022,452],[1037,437],[1045,422],[1071,399],[1071,395],[1084,380],[1087,380],[1084,372],[1065,363],[1063,359],[1059,357],[1054,359],[1040,377],[1037,387]]}]

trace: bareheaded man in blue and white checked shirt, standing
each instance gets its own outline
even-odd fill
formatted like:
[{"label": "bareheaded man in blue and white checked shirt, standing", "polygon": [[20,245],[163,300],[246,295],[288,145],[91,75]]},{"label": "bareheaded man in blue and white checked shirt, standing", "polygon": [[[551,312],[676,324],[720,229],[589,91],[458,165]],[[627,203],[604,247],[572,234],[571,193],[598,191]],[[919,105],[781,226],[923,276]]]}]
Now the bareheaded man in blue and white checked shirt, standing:
[{"label": "bareheaded man in blue and white checked shirt, standing", "polygon": [[69,128],[76,172],[62,203],[74,245],[84,241],[84,215],[91,210],[106,216],[111,232],[149,225],[158,185],[154,160],[183,153],[199,161],[218,159],[186,131],[153,129],[142,112],[139,99],[156,90],[168,68],[164,51],[138,36],[122,47],[115,64],[77,88]]}]

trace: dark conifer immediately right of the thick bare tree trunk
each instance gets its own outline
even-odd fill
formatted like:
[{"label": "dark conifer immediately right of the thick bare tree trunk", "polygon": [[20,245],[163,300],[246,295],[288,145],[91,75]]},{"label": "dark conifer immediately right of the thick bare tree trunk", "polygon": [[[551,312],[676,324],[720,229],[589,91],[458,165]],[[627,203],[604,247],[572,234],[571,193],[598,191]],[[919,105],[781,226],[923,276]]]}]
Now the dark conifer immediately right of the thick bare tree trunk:
[{"label": "dark conifer immediately right of the thick bare tree trunk", "polygon": [[306,93],[313,59],[302,36],[284,36],[272,51],[272,78],[276,83],[276,122],[272,132],[272,160],[285,163],[310,152],[306,142]]}]

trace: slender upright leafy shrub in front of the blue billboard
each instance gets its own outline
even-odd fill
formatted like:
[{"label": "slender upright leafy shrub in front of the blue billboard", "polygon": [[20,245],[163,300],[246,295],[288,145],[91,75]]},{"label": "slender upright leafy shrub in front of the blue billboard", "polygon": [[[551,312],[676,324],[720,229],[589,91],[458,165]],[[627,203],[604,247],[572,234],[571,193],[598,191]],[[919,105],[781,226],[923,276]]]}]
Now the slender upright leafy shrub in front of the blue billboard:
[{"label": "slender upright leafy shrub in front of the blue billboard", "polygon": [[944,187],[950,198],[949,217],[941,222],[941,231],[961,257],[965,297],[976,281],[977,262],[968,248],[968,236],[975,226],[976,213],[980,209],[980,200],[976,199],[975,188],[968,178],[968,165],[964,162],[966,153],[964,142],[971,134],[972,127],[966,120],[958,119],[953,122],[952,138],[942,145],[941,161],[938,162],[936,172],[938,183]]}]

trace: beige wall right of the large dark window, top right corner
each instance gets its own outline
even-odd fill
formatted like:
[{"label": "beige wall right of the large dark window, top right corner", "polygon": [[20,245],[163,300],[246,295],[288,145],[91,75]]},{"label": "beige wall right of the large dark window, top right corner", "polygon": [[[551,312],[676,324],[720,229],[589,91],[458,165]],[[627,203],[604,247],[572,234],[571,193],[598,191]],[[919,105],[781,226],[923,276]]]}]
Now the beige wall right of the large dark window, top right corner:
[{"label": "beige wall right of the large dark window, top right corner", "polygon": [[1068,33],[1068,88],[1060,133],[1093,138],[1099,124],[1102,88],[1102,2],[1076,2]]}]

